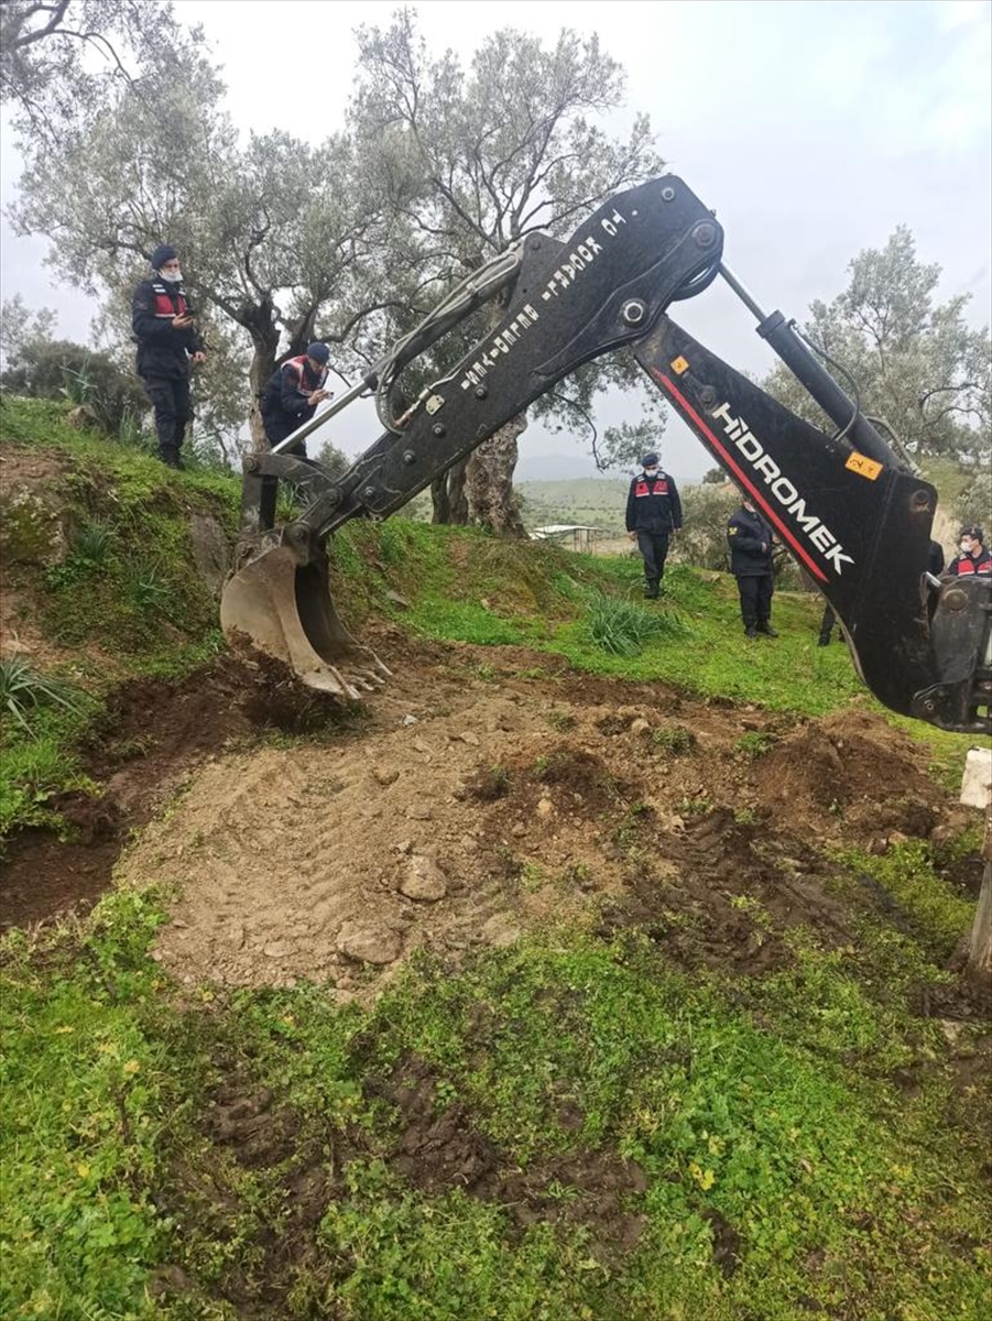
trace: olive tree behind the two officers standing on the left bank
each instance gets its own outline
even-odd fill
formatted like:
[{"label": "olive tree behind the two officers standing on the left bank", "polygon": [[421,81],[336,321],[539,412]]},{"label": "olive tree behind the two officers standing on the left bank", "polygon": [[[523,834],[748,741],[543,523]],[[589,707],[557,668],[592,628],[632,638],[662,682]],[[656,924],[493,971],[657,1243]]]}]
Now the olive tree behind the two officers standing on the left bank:
[{"label": "olive tree behind the two officers standing on the left bank", "polygon": [[50,264],[92,293],[95,309],[147,273],[157,243],[173,243],[194,303],[223,324],[207,349],[227,347],[260,444],[258,396],[281,357],[317,336],[343,343],[367,313],[354,271],[380,235],[346,135],[309,145],[271,132],[242,144],[222,96],[202,54],[182,79],[166,63],[140,87],[120,85],[86,132],[29,149],[12,218],[53,240]]}]

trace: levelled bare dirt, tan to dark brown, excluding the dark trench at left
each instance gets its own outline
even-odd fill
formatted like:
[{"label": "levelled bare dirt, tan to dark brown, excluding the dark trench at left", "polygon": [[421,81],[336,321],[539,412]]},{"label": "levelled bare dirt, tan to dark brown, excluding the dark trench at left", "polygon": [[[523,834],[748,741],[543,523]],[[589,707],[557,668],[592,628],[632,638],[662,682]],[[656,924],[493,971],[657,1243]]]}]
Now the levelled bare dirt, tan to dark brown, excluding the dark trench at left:
[{"label": "levelled bare dirt, tan to dark brown, excluding the dark trench at left", "polygon": [[[189,983],[306,978],[347,999],[375,995],[413,948],[457,960],[559,917],[645,925],[686,966],[740,972],[787,959],[791,925],[851,938],[800,840],[852,826],[803,778],[803,748],[832,749],[856,804],[881,765],[925,783],[898,734],[856,717],[793,736],[779,716],[683,696],[692,737],[676,740],[647,686],[586,691],[532,660],[406,642],[395,680],[339,737],[207,762],[123,868],[182,889],[161,962]],[[745,734],[773,750],[741,752]]]}]

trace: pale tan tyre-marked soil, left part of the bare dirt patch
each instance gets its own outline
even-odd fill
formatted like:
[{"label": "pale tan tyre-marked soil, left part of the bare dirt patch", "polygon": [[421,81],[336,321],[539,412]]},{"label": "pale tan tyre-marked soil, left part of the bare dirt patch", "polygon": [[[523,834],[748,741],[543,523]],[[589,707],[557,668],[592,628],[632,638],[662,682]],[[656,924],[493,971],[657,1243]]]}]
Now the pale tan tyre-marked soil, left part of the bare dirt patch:
[{"label": "pale tan tyre-marked soil, left part of the bare dirt patch", "polygon": [[[343,746],[266,749],[205,768],[122,871],[124,881],[182,886],[161,962],[190,980],[284,985],[333,976],[347,989],[363,960],[342,954],[342,931],[378,943],[383,966],[395,962],[390,948],[507,938],[501,880],[479,867],[478,808],[464,779],[483,738],[499,757],[543,736],[499,728],[520,723],[510,699],[473,695],[465,709]],[[466,728],[469,712],[479,734]],[[444,897],[400,892],[415,859],[443,869]]]}]

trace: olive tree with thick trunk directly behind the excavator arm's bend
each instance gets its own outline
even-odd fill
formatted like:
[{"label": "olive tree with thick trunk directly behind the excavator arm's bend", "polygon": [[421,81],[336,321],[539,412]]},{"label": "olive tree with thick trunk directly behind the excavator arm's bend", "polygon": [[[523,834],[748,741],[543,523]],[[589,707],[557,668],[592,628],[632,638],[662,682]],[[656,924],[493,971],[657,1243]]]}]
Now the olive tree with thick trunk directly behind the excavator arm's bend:
[{"label": "olive tree with thick trunk directly behind the excavator arm's bend", "polygon": [[[568,235],[610,194],[662,168],[646,116],[626,139],[602,127],[622,103],[625,75],[596,36],[563,30],[547,48],[507,28],[482,42],[468,69],[450,52],[429,53],[408,9],[357,37],[350,124],[409,250],[409,301],[386,318],[392,328],[528,232]],[[502,312],[497,301],[469,330],[485,333]],[[453,339],[468,350],[469,339]],[[449,365],[443,355],[432,363]],[[532,412],[573,427],[590,417],[598,390],[617,380],[637,388],[638,379],[631,359],[590,365]],[[436,511],[523,535],[513,473],[526,425],[526,413],[513,419],[435,482]]]}]

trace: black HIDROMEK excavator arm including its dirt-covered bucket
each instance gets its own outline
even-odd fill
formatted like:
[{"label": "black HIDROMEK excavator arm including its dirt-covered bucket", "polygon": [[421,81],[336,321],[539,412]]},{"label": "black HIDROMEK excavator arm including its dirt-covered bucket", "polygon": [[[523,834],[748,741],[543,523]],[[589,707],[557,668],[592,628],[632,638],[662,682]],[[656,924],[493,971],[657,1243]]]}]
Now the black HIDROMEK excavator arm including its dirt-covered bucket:
[{"label": "black HIDROMEK excavator arm including its dirt-covered bucket", "polygon": [[[859,671],[886,707],[944,729],[989,728],[992,580],[926,571],[937,507],[802,338],[765,316],[723,263],[724,234],[682,180],[664,176],[612,198],[561,243],[530,235],[472,277],[363,384],[289,437],[322,425],[362,388],[379,391],[386,431],[341,477],[276,450],[244,461],[243,543],[222,601],[227,637],[347,696],[388,671],[334,613],[328,536],[351,518],[382,519],[585,362],[629,347],[715,461],[754,499],[844,625]],[[835,423],[831,435],[783,408],[668,316],[717,276],[758,318],[758,333]],[[400,417],[391,390],[413,357],[481,303],[502,295],[499,324]],[[275,523],[280,480],[309,503]]]}]

